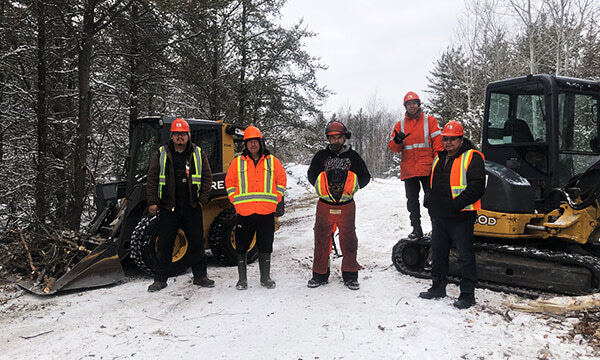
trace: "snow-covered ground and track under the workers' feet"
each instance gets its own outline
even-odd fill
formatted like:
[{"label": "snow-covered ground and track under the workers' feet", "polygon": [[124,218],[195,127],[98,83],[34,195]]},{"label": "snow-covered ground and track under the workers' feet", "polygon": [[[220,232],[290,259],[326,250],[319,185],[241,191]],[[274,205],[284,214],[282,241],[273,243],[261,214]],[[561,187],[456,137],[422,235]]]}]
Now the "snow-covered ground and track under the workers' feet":
[{"label": "snow-covered ground and track under the workers' feet", "polygon": [[[458,296],[423,300],[425,280],[400,274],[391,249],[410,232],[403,184],[374,179],[356,195],[359,291],[341,282],[332,260],[328,285],[309,289],[316,196],[306,166],[288,165],[287,212],[275,235],[272,277],[235,289],[235,267],[211,259],[214,288],[169,279],[158,293],[142,275],[122,284],[54,297],[14,287],[0,291],[2,359],[592,359],[569,341],[569,320],[509,311],[514,295],[478,289],[477,305],[457,310]],[[424,211],[425,212],[425,211]],[[424,219],[425,231],[430,230]],[[577,338],[576,338],[577,340]]]}]

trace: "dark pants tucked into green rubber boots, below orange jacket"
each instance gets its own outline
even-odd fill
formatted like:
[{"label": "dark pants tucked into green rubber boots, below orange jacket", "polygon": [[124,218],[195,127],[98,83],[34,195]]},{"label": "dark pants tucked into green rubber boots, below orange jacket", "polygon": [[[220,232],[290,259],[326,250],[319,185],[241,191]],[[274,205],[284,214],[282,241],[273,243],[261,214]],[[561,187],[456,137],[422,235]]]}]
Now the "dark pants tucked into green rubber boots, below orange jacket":
[{"label": "dark pants tucked into green rubber boots, below orange jacket", "polygon": [[235,250],[238,254],[245,254],[254,234],[256,234],[256,246],[258,252],[270,254],[273,252],[273,239],[275,233],[275,214],[248,216],[237,216],[237,228],[235,229]]}]

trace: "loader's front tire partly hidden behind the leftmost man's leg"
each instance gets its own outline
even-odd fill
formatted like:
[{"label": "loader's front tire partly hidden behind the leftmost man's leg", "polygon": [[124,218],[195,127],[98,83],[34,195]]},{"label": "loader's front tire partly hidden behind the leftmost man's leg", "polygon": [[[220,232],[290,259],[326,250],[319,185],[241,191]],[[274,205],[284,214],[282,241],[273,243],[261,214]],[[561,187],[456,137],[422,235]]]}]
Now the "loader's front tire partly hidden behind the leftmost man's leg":
[{"label": "loader's front tire partly hidden behind the leftmost man's leg", "polygon": [[[158,240],[158,215],[149,215],[140,220],[131,234],[131,258],[146,274],[154,275],[154,255]],[[173,260],[169,276],[183,273],[189,266],[187,239],[180,229],[173,246]]]}]

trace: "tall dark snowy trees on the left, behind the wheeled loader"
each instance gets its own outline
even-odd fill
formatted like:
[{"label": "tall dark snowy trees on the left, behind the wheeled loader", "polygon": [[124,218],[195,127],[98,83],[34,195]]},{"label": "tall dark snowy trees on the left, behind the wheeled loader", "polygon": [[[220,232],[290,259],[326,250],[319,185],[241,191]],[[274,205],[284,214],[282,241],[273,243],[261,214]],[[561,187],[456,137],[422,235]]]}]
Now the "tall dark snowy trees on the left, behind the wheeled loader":
[{"label": "tall dark snowy trees on the left, behind the wheeled loader", "polygon": [[284,3],[0,1],[2,233],[78,230],[94,185],[123,177],[141,116],[252,123],[296,143],[328,91],[303,48],[314,34],[279,25]]}]

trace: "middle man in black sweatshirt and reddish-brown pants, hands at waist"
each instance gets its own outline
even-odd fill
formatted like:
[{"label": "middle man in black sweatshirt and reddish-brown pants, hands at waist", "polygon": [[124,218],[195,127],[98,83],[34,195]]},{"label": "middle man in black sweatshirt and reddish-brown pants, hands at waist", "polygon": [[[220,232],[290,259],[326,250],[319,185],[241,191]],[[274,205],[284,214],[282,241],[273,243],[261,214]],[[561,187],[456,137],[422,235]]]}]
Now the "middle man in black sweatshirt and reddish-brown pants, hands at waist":
[{"label": "middle man in black sweatshirt and reddish-brown pants, hands at waist", "polygon": [[[351,133],[344,124],[337,120],[330,121],[325,129],[325,135],[329,145],[315,154],[307,172],[308,181],[315,186],[319,195],[314,227],[313,274],[307,286],[316,288],[329,282],[329,252],[332,232],[337,227],[344,256],[342,279],[349,289],[358,290],[360,287],[358,271],[361,266],[356,260],[358,238],[355,230],[356,204],[353,195],[359,188],[367,186],[371,174],[360,155],[346,144]],[[333,176],[333,173],[324,175],[333,169],[348,174],[344,180],[343,192],[338,194],[339,199],[336,198],[336,191],[328,184],[329,176]],[[334,181],[331,185],[335,187],[336,183],[337,181]],[[331,193],[328,193],[328,190]]]}]

